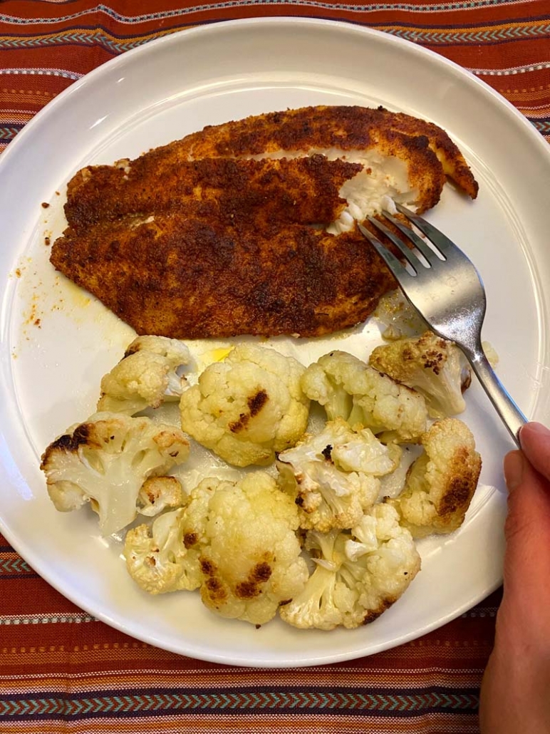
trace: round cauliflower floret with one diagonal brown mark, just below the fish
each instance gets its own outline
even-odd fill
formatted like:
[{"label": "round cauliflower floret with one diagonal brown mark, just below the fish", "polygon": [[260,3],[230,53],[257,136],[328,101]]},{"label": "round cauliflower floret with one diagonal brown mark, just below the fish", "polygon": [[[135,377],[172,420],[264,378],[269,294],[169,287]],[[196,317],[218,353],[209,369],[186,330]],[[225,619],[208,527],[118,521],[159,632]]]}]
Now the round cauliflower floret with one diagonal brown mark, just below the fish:
[{"label": "round cauliflower floret with one diagonal brown mark, just below the fish", "polygon": [[183,430],[232,465],[271,464],[307,428],[304,370],[274,349],[239,344],[183,393]]}]

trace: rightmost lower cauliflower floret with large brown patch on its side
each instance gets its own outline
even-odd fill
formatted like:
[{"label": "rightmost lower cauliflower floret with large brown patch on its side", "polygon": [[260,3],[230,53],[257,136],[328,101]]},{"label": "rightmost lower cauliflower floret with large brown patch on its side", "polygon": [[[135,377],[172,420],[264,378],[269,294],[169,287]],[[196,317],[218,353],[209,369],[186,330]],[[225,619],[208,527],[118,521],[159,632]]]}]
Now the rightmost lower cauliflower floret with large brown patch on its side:
[{"label": "rightmost lower cauliflower floret with large brown patch on its side", "polygon": [[477,487],[480,454],[458,418],[433,424],[421,443],[424,451],[411,466],[403,493],[389,503],[416,538],[452,533],[462,525]]}]

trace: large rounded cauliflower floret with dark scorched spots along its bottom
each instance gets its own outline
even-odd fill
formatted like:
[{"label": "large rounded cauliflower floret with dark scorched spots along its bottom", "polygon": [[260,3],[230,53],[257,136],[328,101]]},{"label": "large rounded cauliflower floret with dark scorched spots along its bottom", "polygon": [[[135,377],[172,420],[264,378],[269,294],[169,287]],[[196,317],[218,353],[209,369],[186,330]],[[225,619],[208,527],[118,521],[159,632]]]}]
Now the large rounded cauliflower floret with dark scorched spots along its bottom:
[{"label": "large rounded cauliflower floret with dark scorched spots along its bottom", "polygon": [[183,541],[202,579],[202,601],[222,617],[263,625],[308,577],[298,512],[268,473],[203,479],[183,513]]}]

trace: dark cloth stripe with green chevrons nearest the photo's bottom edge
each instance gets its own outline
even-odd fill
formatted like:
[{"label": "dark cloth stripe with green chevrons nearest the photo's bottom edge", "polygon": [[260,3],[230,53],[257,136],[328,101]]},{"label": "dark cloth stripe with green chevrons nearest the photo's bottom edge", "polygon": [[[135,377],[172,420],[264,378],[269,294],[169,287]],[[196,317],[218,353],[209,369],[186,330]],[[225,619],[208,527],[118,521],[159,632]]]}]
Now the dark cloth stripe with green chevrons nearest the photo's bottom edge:
[{"label": "dark cloth stripe with green chevrons nearest the photo's bottom edge", "polygon": [[[32,697],[0,697],[0,720],[130,719],[139,716],[174,716],[175,713],[209,716],[254,715],[273,716],[362,716],[363,718],[416,718],[432,713],[460,713],[477,716],[477,688],[449,690],[441,686],[422,690],[362,691],[361,689],[228,688],[210,689],[161,688],[144,691],[86,691],[78,697],[57,691],[40,691]],[[339,697],[341,700],[339,701]]]}]

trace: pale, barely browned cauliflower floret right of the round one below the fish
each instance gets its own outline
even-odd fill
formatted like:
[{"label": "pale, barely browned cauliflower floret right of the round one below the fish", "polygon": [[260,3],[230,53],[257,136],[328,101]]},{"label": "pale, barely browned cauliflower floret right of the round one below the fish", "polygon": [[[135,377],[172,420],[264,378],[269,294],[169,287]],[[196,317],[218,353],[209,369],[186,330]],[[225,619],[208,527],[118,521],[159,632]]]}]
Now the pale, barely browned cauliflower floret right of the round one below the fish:
[{"label": "pale, barely browned cauliflower floret right of the round one below the fish", "polygon": [[392,431],[400,441],[426,430],[425,399],[347,352],[330,352],[310,365],[301,379],[304,393],[323,405],[329,421],[344,418],[375,434]]}]

